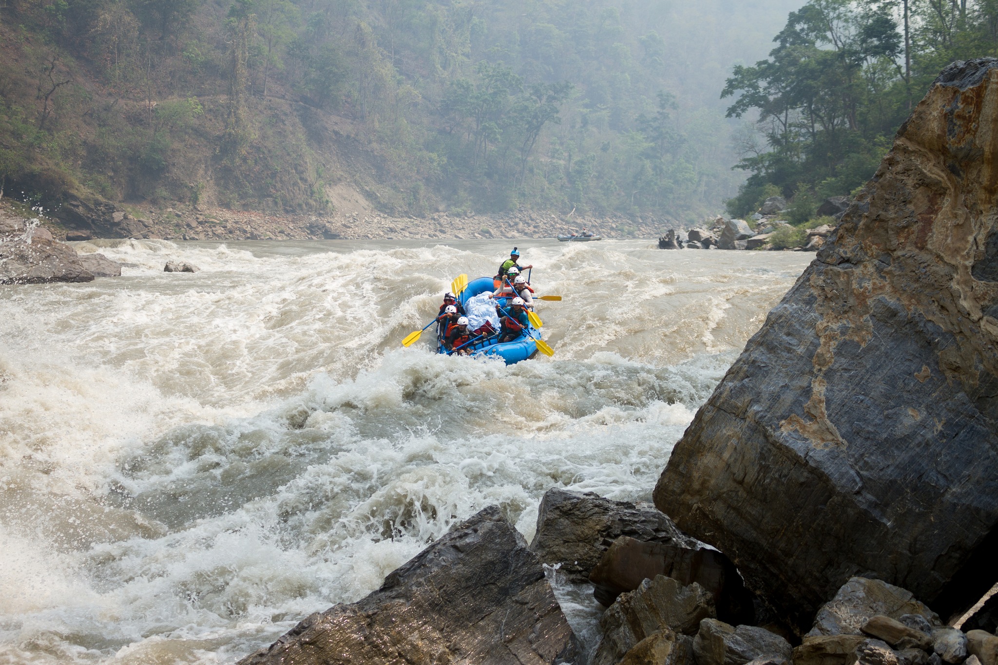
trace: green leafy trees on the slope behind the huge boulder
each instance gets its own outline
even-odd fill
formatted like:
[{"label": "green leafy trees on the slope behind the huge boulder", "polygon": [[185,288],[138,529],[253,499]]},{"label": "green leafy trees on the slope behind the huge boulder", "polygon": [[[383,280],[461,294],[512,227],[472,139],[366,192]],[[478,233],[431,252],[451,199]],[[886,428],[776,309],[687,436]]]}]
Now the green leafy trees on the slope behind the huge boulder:
[{"label": "green leafy trees on the slope behind the huge boulder", "polygon": [[737,141],[750,176],[729,210],[746,215],[781,193],[802,221],[873,175],[943,67],[998,55],[998,2],[811,0],[774,41],[724,90],[729,117],[757,119]]}]

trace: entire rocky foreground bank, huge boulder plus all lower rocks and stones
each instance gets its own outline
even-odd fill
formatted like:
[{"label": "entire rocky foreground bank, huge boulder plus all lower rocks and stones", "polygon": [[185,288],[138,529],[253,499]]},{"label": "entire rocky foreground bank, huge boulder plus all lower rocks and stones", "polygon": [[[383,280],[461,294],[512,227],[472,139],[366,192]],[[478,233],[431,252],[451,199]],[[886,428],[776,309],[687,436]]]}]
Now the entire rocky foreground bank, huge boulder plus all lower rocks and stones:
[{"label": "entire rocky foreground bank, huge boulder plus all lower rocks and stones", "polygon": [[243,662],[998,665],[995,109],[998,59],[940,75],[655,506],[552,490],[529,548],[486,508]]}]

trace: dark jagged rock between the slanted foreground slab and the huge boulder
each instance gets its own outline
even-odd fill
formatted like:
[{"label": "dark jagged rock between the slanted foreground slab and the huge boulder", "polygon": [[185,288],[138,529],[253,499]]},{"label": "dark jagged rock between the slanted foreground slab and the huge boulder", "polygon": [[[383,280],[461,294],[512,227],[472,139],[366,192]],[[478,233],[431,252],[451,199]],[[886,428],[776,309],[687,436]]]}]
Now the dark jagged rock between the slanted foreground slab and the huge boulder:
[{"label": "dark jagged rock between the slanted foreground slab and the huge boulder", "polygon": [[[582,582],[588,581],[589,573],[604,552],[622,535],[643,542],[665,542],[691,548],[700,544],[649,503],[615,501],[591,492],[583,494],[556,488],[548,490],[541,499],[537,530],[530,549],[542,562],[560,565],[560,571],[570,580]],[[641,579],[631,588],[637,588]]]}]

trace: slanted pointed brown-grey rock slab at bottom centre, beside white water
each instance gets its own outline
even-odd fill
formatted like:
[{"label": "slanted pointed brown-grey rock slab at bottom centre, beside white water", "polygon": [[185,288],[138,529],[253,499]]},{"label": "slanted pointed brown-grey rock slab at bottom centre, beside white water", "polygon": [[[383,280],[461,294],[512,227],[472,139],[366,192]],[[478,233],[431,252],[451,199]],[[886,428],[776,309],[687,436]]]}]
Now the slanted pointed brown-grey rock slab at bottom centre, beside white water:
[{"label": "slanted pointed brown-grey rock slab at bottom centre, beside white water", "polygon": [[572,660],[575,644],[540,561],[493,505],[366,598],[308,616],[241,662],[542,665]]}]

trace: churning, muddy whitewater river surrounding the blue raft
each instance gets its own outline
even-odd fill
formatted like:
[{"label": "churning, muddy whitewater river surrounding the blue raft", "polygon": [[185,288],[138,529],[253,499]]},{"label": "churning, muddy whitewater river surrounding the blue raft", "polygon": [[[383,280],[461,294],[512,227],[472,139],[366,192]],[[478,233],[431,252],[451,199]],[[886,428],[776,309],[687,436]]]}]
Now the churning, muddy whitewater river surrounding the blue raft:
[{"label": "churning, muddy whitewater river surrounding the blue raft", "polygon": [[649,499],[813,257],[521,240],[506,367],[399,346],[506,241],[76,245],[123,276],[0,286],[0,663],[232,663],[490,503]]}]

